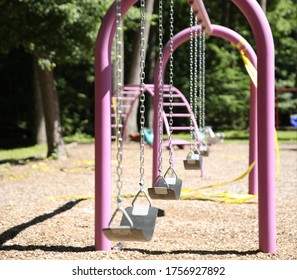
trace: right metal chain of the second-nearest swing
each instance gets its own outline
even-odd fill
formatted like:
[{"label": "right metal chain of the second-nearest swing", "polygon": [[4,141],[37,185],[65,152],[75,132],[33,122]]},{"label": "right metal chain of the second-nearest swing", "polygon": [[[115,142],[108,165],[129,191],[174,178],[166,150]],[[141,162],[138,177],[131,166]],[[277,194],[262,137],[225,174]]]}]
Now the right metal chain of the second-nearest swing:
[{"label": "right metal chain of the second-nearest swing", "polygon": [[170,59],[169,59],[169,165],[173,168],[173,144],[172,144],[172,126],[173,126],[173,29],[174,29],[174,1],[170,0]]}]

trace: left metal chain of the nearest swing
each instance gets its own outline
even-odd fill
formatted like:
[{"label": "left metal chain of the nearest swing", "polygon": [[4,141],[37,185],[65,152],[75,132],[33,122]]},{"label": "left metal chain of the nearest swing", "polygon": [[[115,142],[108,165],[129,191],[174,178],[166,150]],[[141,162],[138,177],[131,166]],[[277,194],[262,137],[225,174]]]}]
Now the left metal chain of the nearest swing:
[{"label": "left metal chain of the nearest swing", "polygon": [[121,0],[116,0],[116,95],[117,95],[117,106],[116,106],[116,143],[117,143],[117,203],[118,208],[121,207],[123,201],[122,197],[122,161],[123,161],[123,125],[122,125],[122,42],[121,42],[121,31],[122,31],[122,14],[121,14]]}]

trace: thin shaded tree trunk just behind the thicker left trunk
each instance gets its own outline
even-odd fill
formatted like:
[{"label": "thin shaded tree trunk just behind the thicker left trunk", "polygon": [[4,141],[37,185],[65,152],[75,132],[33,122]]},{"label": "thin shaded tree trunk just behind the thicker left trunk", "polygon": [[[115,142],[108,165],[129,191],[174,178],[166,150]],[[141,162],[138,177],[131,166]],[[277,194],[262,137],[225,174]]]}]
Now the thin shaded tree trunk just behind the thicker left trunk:
[{"label": "thin shaded tree trunk just behind the thicker left trunk", "polygon": [[34,78],[34,141],[37,145],[46,144],[46,130],[44,121],[44,110],[42,105],[42,94],[39,80],[37,59],[33,59],[33,78]]}]

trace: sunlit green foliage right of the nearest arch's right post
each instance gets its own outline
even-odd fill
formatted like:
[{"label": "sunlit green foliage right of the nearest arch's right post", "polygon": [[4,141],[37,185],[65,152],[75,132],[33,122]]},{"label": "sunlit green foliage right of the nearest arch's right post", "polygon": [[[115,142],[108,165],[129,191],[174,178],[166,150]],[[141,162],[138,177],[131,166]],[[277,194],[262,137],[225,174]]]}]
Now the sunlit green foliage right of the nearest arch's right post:
[{"label": "sunlit green foliage right of the nearest arch's right post", "polygon": [[[297,3],[277,1],[267,13],[275,42],[276,87],[297,87]],[[297,94],[279,94],[279,124],[290,125],[290,114],[297,112]]]}]

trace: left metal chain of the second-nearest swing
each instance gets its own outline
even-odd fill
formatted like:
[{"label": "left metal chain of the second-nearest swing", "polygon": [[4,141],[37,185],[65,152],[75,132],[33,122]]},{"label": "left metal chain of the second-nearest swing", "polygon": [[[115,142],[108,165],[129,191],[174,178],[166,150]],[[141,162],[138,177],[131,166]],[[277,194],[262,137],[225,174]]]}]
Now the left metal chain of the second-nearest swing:
[{"label": "left metal chain of the second-nearest swing", "polygon": [[159,118],[159,175],[162,174],[162,151],[163,151],[163,0],[159,0],[159,76],[158,76],[158,118]]}]

